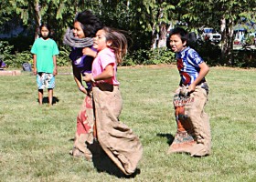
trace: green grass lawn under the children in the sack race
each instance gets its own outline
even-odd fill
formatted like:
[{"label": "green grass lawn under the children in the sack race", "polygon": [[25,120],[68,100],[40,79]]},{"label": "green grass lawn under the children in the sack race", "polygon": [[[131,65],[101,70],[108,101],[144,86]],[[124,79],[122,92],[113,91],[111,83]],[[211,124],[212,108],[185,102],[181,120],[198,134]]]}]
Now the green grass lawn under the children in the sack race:
[{"label": "green grass lawn under the children in the sack race", "polygon": [[[59,72],[70,72],[70,68]],[[119,68],[121,120],[144,146],[134,178],[98,172],[91,162],[69,156],[83,95],[71,75],[57,76],[54,106],[38,106],[35,76],[0,76],[0,181],[255,181],[256,70],[212,67],[212,153],[166,155],[176,133],[172,97],[179,81],[174,66]],[[45,96],[47,93],[45,92]]]}]

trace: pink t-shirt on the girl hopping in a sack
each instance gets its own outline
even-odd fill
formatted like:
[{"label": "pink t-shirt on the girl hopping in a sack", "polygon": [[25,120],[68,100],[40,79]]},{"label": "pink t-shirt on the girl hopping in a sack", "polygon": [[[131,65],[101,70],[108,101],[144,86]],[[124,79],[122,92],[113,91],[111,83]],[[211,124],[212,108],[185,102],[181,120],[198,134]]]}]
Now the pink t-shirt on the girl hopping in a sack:
[{"label": "pink t-shirt on the girl hopping in a sack", "polygon": [[116,61],[115,61],[115,55],[110,48],[104,48],[101,50],[98,55],[95,57],[92,63],[92,76],[98,76],[100,75],[106,66],[112,64],[114,76],[109,79],[97,81],[98,83],[108,83],[114,86],[119,86],[119,82],[116,79]]}]

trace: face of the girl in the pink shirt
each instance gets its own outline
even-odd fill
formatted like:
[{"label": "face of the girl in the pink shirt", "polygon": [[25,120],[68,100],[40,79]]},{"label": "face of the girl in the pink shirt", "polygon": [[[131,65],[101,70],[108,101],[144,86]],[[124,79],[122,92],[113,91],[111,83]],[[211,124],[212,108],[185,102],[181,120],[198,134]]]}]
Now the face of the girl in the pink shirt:
[{"label": "face of the girl in the pink shirt", "polygon": [[98,51],[101,51],[110,45],[112,45],[112,42],[107,41],[105,31],[102,29],[99,30],[93,39],[93,48],[97,49]]}]

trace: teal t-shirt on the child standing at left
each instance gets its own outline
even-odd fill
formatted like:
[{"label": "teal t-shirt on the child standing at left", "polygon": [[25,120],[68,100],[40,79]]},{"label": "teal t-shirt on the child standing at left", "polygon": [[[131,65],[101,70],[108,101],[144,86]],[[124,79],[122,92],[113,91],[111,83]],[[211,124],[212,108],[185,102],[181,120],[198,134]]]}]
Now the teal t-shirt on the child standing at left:
[{"label": "teal t-shirt on the child standing at left", "polygon": [[59,55],[59,48],[53,39],[37,38],[31,48],[31,53],[37,55],[37,73],[53,73],[52,56]]}]

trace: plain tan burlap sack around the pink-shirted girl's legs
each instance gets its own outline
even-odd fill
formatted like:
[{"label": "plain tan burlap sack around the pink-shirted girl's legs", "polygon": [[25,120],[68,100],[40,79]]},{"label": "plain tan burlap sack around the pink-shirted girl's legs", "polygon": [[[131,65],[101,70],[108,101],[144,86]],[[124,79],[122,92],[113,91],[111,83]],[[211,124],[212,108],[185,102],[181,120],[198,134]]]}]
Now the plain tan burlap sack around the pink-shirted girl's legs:
[{"label": "plain tan burlap sack around the pink-shirted girl's legs", "polygon": [[133,130],[119,121],[122,97],[119,86],[93,86],[97,139],[125,175],[132,175],[143,155],[143,147]]}]

